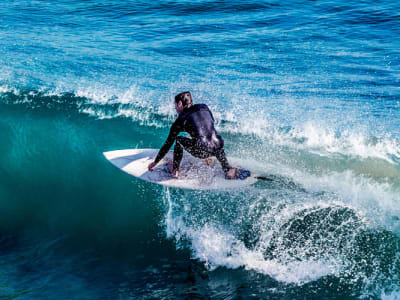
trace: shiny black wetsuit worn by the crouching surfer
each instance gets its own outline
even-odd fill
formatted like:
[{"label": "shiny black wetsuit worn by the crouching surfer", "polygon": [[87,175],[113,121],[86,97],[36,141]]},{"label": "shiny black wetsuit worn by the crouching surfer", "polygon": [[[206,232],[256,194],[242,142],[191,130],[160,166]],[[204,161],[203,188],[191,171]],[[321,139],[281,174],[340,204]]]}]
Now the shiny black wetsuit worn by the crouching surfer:
[{"label": "shiny black wetsuit worn by the crouching surfer", "polygon": [[[180,132],[187,132],[190,138],[178,136]],[[224,152],[224,140],[214,127],[214,117],[205,104],[195,104],[185,108],[171,126],[168,138],[157,154],[155,163],[158,163],[168,153],[172,144],[174,148],[173,170],[179,170],[182,161],[183,149],[198,158],[217,157],[224,172],[231,166]]]}]

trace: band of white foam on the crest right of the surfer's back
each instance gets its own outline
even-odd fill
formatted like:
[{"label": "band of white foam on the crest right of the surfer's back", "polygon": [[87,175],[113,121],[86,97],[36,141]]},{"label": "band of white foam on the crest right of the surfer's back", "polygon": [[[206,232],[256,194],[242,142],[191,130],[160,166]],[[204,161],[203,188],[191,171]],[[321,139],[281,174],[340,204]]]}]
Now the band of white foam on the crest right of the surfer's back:
[{"label": "band of white foam on the crest right of the surfer's back", "polygon": [[268,119],[239,119],[236,123],[219,126],[221,131],[253,135],[267,140],[271,145],[288,146],[293,149],[312,151],[320,156],[336,154],[360,159],[378,158],[397,164],[400,160],[400,141],[387,134],[372,138],[359,128],[337,132],[319,122],[308,121],[297,124],[290,130],[282,130]]}]

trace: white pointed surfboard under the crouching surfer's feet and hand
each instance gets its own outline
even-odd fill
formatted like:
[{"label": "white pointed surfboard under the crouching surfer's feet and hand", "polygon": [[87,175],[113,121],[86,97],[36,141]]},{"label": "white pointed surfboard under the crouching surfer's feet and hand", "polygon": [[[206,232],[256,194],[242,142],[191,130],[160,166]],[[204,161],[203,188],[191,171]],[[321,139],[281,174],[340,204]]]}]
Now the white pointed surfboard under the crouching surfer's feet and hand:
[{"label": "white pointed surfboard under the crouching surfer's feet and hand", "polygon": [[[203,159],[198,159],[184,152],[179,168],[179,178],[173,178],[168,171],[168,162],[172,161],[173,152],[167,155],[154,168],[153,172],[147,166],[154,161],[158,149],[126,149],[104,152],[104,156],[117,168],[145,181],[169,187],[193,190],[212,190],[238,188],[253,184],[257,179],[248,177],[244,180],[225,179],[220,163],[213,158],[208,165]],[[229,163],[240,167],[240,159],[229,158]]]}]

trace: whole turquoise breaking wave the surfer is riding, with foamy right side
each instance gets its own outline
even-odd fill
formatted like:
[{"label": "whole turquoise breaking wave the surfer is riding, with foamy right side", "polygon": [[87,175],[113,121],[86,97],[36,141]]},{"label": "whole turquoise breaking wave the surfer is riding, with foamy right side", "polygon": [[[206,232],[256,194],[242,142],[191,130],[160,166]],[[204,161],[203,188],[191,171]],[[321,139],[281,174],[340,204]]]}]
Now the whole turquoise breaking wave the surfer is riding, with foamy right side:
[{"label": "whole turquoise breaking wave the surfer is riding, with foamy right side", "polygon": [[[248,284],[272,280],[280,290],[301,291],[304,297],[310,287],[324,290],[321,296],[350,297],[379,295],[399,284],[395,160],[322,155],[315,145],[294,138],[293,129],[267,135],[290,136],[282,143],[231,130],[235,122],[225,120],[218,126],[227,152],[241,155],[273,181],[238,191],[169,190],[120,172],[102,152],[160,147],[171,115],[132,103],[96,104],[74,93],[20,90],[0,98],[0,228],[6,241],[1,259],[13,274],[27,278],[26,270],[6,258],[26,257],[30,268],[39,259],[46,271],[32,273],[40,277],[30,279],[37,286],[60,272],[92,276],[91,260],[102,280],[110,272],[127,272],[115,284],[126,284],[136,296],[164,295],[161,290],[176,282],[158,272],[189,276],[180,268],[196,268],[190,271],[194,277],[235,282],[232,276],[239,276]],[[121,115],[121,108],[142,114]],[[27,252],[33,246],[36,250]],[[108,258],[103,262],[103,257]],[[71,262],[57,266],[65,260]],[[136,291],[138,272],[156,288]],[[37,295],[5,274],[0,280],[17,294]],[[72,290],[80,293],[87,283],[76,276]],[[181,283],[184,291],[191,280]],[[108,288],[88,288],[88,295],[114,295],[116,286]]]}]

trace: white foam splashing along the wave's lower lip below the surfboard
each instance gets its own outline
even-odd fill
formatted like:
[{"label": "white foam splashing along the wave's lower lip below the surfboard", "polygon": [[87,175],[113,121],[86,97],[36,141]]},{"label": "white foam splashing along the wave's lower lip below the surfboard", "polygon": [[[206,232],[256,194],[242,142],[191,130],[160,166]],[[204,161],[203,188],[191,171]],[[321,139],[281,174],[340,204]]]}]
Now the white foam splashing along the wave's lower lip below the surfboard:
[{"label": "white foam splashing along the wave's lower lip below the surfboard", "polygon": [[169,190],[166,191],[166,199],[169,207],[165,220],[167,236],[174,237],[178,243],[182,239],[188,240],[193,256],[204,262],[210,270],[221,266],[231,269],[243,267],[284,283],[301,285],[327,275],[338,274],[342,269],[334,257],[285,262],[266,259],[263,254],[265,248],[246,248],[244,243],[224,226],[210,223],[197,228],[188,226],[171,200]]}]

